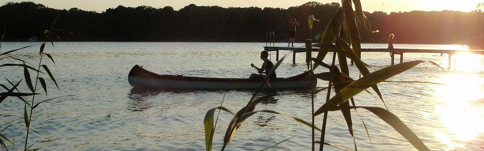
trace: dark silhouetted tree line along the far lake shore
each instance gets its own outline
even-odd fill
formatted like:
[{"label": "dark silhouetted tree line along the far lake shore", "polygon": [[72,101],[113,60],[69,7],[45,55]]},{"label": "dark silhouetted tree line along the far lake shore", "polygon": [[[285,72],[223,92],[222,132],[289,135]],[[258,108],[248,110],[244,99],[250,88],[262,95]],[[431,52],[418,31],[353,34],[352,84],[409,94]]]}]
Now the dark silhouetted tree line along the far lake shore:
[{"label": "dark silhouetted tree line along the far lake shore", "polygon": [[[187,5],[180,10],[170,6],[109,8],[102,13],[78,8],[59,10],[33,2],[8,2],[0,7],[0,28],[6,28],[5,40],[23,41],[36,36],[57,20],[56,29],[71,31],[59,34],[61,41],[217,41],[264,42],[267,31],[275,32],[279,42],[287,41],[289,20],[301,24],[296,41],[308,38],[307,17],[315,15],[313,35],[318,36],[340,8],[339,3],[307,2],[282,8]],[[364,8],[363,8],[364,9]],[[396,43],[459,44],[484,35],[484,13],[412,11],[405,13],[366,12],[373,29],[361,30],[363,42],[386,43],[390,33]],[[373,37],[373,40],[372,40]]]}]

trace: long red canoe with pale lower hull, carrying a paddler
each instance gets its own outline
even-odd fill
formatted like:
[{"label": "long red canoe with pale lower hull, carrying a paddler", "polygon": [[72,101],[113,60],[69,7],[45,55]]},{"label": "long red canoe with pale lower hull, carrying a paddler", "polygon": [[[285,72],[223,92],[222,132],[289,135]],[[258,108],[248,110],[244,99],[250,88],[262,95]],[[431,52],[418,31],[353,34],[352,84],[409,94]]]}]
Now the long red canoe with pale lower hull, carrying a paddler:
[{"label": "long red canoe with pale lower hull, carrying a paddler", "polygon": [[[312,75],[312,76],[311,76]],[[312,77],[312,78],[311,78]],[[276,78],[270,84],[264,84],[263,89],[294,89],[316,87],[317,80],[312,72]],[[140,65],[135,65],[128,75],[128,82],[135,88],[158,89],[257,89],[262,79],[249,78],[213,78],[174,76],[156,74]]]}]

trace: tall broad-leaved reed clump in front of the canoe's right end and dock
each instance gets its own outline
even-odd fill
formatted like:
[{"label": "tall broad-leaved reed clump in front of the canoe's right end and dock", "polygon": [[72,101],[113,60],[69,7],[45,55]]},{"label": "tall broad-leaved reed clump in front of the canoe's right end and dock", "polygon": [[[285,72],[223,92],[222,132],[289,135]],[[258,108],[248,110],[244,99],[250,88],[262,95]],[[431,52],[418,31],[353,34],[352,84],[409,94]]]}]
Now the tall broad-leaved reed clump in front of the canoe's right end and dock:
[{"label": "tall broad-leaved reed clump in front of the canoe's right end and dock", "polygon": [[[326,141],[325,131],[326,131],[328,114],[330,114],[333,111],[342,112],[344,120],[348,125],[348,132],[351,136],[353,136],[353,141],[354,141],[355,134],[353,134],[353,124],[352,124],[353,121],[351,119],[352,115],[350,110],[354,109],[358,114],[357,109],[365,109],[372,112],[378,118],[380,118],[381,120],[385,121],[390,126],[392,126],[398,133],[400,133],[405,139],[407,139],[407,141],[410,144],[412,144],[417,150],[429,151],[429,149],[425,146],[425,144],[423,144],[422,140],[417,135],[415,135],[415,133],[413,133],[412,130],[410,130],[405,125],[405,123],[400,121],[396,115],[391,113],[388,110],[388,108],[381,108],[377,106],[364,106],[364,105],[356,106],[356,103],[358,100],[353,99],[355,95],[363,91],[371,93],[370,91],[366,90],[371,88],[372,91],[374,91],[378,95],[379,99],[384,104],[383,97],[381,95],[381,92],[378,89],[377,84],[385,81],[386,79],[392,76],[405,72],[408,69],[413,68],[414,66],[420,63],[423,63],[425,61],[414,60],[414,61],[403,62],[400,64],[388,66],[383,69],[370,73],[368,70],[368,67],[371,67],[371,66],[367,65],[362,60],[360,60],[361,38],[360,38],[359,28],[361,30],[366,30],[367,32],[371,32],[371,33],[375,33],[378,30],[372,30],[368,22],[368,19],[366,18],[366,16],[362,11],[360,0],[342,0],[342,2],[343,2],[343,7],[338,10],[338,12],[333,16],[329,24],[326,26],[320,43],[315,44],[320,47],[318,51],[318,56],[316,58],[311,58],[311,56],[307,56],[308,58],[311,58],[312,61],[314,61],[315,63],[314,65],[308,64],[308,70],[310,71],[315,71],[316,69],[321,70],[320,69],[321,67],[329,69],[329,72],[323,72],[323,73],[314,75],[319,79],[328,81],[327,87],[320,90],[315,90],[313,87],[309,87],[310,93],[312,94],[312,97],[311,97],[312,114],[308,116],[311,116],[312,121],[311,122],[303,121],[300,118],[293,117],[291,115],[287,115],[273,110],[256,110],[258,103],[276,95],[285,95],[285,94],[270,94],[270,95],[256,98],[257,93],[260,91],[260,88],[263,85],[265,85],[265,81],[267,79],[264,79],[264,81],[260,84],[259,90],[254,93],[252,98],[247,102],[247,105],[242,107],[242,109],[240,109],[238,112],[234,113],[228,110],[227,108],[223,107],[222,106],[223,102],[220,106],[214,107],[207,111],[207,114],[205,115],[205,119],[204,119],[205,143],[206,143],[207,151],[212,150],[213,134],[216,131],[215,127],[217,124],[217,120],[219,118],[219,116],[217,116],[217,120],[214,120],[214,113],[217,109],[219,109],[219,112],[223,110],[234,115],[234,117],[232,118],[232,121],[227,126],[227,131],[225,132],[224,144],[223,144],[222,150],[224,150],[226,146],[233,139],[235,139],[236,131],[241,127],[243,121],[245,121],[246,119],[250,118],[252,115],[255,115],[259,112],[266,112],[266,113],[288,116],[294,119],[295,121],[301,122],[302,124],[311,127],[313,131],[312,142],[308,142],[308,144],[309,143],[312,144],[313,151],[316,148],[319,148],[319,151],[322,151],[324,145],[330,145],[330,146],[338,147],[340,149],[344,149],[342,147],[337,146],[336,144],[329,144],[325,142]],[[353,10],[353,6],[355,10]],[[308,24],[309,24],[310,31],[312,30],[312,23],[315,20],[316,19],[314,18],[313,15],[308,17]],[[357,26],[357,25],[360,25],[360,26]],[[311,51],[310,49],[312,46],[311,44],[312,44],[311,39],[306,40],[306,48],[308,49],[308,51]],[[350,45],[352,46],[352,48],[350,48]],[[330,49],[335,50],[335,53],[333,53],[332,57],[327,56]],[[307,53],[307,54],[310,54],[310,53]],[[270,77],[270,75],[274,73],[275,69],[280,65],[280,63],[285,59],[285,57],[286,56],[282,57],[281,60],[275,63],[274,67],[272,68],[272,71],[270,71],[267,77]],[[331,59],[331,62],[332,62],[331,65],[322,62],[322,60],[324,60],[325,58]],[[338,59],[339,68],[335,66],[336,58]],[[349,76],[347,58],[354,61],[356,67],[358,68],[358,70],[360,71],[360,74],[362,75],[361,78],[353,79]],[[434,62],[430,62],[430,63],[437,65]],[[335,94],[333,95],[333,97],[330,97],[330,94],[333,89]],[[326,90],[327,92],[326,99],[325,100],[315,99],[314,94],[323,92],[324,90]],[[316,106],[316,110],[315,110],[315,106],[314,106],[315,101],[324,101],[325,103],[322,106]],[[215,125],[213,123],[214,121],[215,121]],[[322,121],[322,125],[320,128],[318,125],[314,124],[315,121]],[[361,121],[363,122],[363,119],[361,119]],[[363,125],[365,125],[364,122],[363,122]],[[364,127],[366,129],[366,126]],[[315,133],[315,131],[318,131],[318,132]],[[366,132],[367,132],[366,135],[370,137],[370,135],[368,134],[368,130],[366,130]],[[316,144],[318,144],[318,147],[316,146]],[[353,142],[353,144],[354,144],[354,150],[357,150],[358,145],[356,144],[355,141]],[[344,149],[344,150],[348,150],[348,149]]]}]

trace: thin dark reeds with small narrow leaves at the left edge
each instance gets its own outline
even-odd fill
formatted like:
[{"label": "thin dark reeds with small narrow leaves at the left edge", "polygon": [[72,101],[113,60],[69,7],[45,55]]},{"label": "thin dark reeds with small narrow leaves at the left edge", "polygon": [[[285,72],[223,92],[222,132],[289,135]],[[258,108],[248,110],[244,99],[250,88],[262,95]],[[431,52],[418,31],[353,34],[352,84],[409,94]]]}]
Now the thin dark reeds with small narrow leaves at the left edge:
[{"label": "thin dark reeds with small narrow leaves at the left edge", "polygon": [[[40,45],[29,45],[29,46],[25,46],[25,47],[22,47],[22,48],[2,52],[1,51],[1,43],[3,42],[3,38],[5,37],[5,29],[2,32],[2,36],[1,36],[1,39],[0,39],[0,52],[2,52],[0,54],[0,60],[4,60],[4,59],[5,60],[12,60],[12,62],[1,64],[0,67],[1,68],[13,67],[13,68],[10,68],[12,70],[7,70],[7,72],[5,74],[11,74],[13,72],[16,72],[16,70],[14,68],[15,67],[21,67],[21,68],[23,68],[24,77],[21,78],[21,79],[17,79],[18,82],[12,82],[8,78],[4,77],[5,80],[8,81],[8,84],[0,84],[0,86],[2,87],[2,89],[0,91],[0,103],[2,103],[7,98],[17,98],[19,101],[22,101],[24,103],[24,107],[23,107],[24,114],[21,117],[23,118],[23,120],[25,122],[25,126],[24,125],[15,125],[15,124],[11,124],[11,123],[5,123],[4,121],[1,121],[0,122],[0,128],[2,129],[2,131],[0,131],[0,148],[4,148],[4,149],[8,150],[7,146],[5,145],[5,142],[10,142],[12,144],[15,144],[15,142],[10,140],[7,136],[1,134],[1,133],[4,133],[4,132],[8,132],[10,129],[13,129],[13,127],[11,127],[11,126],[14,126],[15,128],[20,128],[20,129],[25,128],[26,129],[27,133],[26,133],[26,136],[25,136],[25,148],[24,148],[24,150],[25,151],[29,150],[30,147],[35,145],[35,143],[29,144],[29,133],[30,133],[30,131],[33,131],[35,133],[39,133],[39,132],[33,130],[32,127],[31,127],[32,126],[31,120],[32,120],[32,114],[33,114],[34,109],[36,107],[38,107],[41,103],[44,103],[44,102],[47,102],[47,101],[52,101],[52,100],[55,100],[55,99],[58,99],[58,98],[61,98],[61,97],[71,96],[71,95],[65,95],[65,96],[61,96],[61,97],[46,99],[46,100],[43,100],[43,101],[36,101],[35,100],[35,96],[38,95],[38,94],[41,94],[41,91],[37,90],[37,88],[38,88],[37,84],[39,84],[39,83],[40,83],[40,85],[42,85],[42,88],[45,92],[45,95],[48,97],[48,95],[47,95],[47,84],[46,84],[45,79],[51,79],[52,82],[57,87],[57,89],[59,91],[61,91],[61,89],[59,88],[59,85],[57,84],[55,77],[50,72],[49,67],[47,65],[43,64],[43,60],[45,61],[45,59],[46,59],[45,57],[50,59],[55,64],[55,61],[52,58],[52,56],[48,53],[45,53],[45,51],[44,51],[45,45],[49,44],[47,40],[50,40],[49,41],[50,44],[52,44],[52,46],[54,46],[54,43],[53,43],[52,40],[53,40],[54,36],[57,36],[56,31],[62,31],[62,32],[70,33],[67,30],[54,29],[54,25],[55,25],[58,17],[59,17],[59,15],[57,17],[55,17],[53,23],[51,24],[50,28],[48,28],[48,30],[44,30],[43,33],[45,34],[45,42],[43,44],[40,44]],[[33,47],[33,46],[39,46],[39,56],[38,56],[39,57],[38,58],[39,63],[38,63],[38,66],[34,66],[33,64],[31,64],[31,63],[29,63],[25,60],[18,59],[18,58],[10,56],[11,55],[10,53],[12,53],[12,52],[19,51],[21,49],[28,48],[28,47]],[[22,62],[22,64],[18,64],[15,61],[20,61],[20,62]],[[42,69],[41,69],[41,67],[42,67]],[[31,75],[30,75],[31,71],[34,71],[34,73],[35,73],[34,75],[36,75],[36,76],[34,76],[35,82],[32,82]],[[0,76],[5,76],[5,75],[0,75]],[[15,81],[15,80],[13,80],[13,81]],[[25,81],[25,84],[27,85],[27,87],[30,90],[28,92],[21,92],[18,89],[18,86],[20,85],[20,83],[22,83],[24,81]],[[16,84],[14,84],[14,83],[16,83]],[[32,97],[31,100],[28,99],[29,96]],[[30,145],[30,146],[28,146],[28,145]],[[34,150],[36,150],[36,149],[34,149]]]}]

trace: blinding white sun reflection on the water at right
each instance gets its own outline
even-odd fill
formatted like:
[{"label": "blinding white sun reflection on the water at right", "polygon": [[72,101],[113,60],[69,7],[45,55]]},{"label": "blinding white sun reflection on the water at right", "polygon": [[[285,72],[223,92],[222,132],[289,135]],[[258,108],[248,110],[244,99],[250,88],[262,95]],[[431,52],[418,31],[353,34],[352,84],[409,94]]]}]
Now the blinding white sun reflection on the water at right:
[{"label": "blinding white sun reflection on the water at right", "polygon": [[443,128],[435,130],[434,136],[448,145],[446,150],[464,147],[484,132],[484,105],[479,102],[484,98],[484,79],[479,74],[449,73],[438,81],[447,85],[436,86],[435,111]]}]

